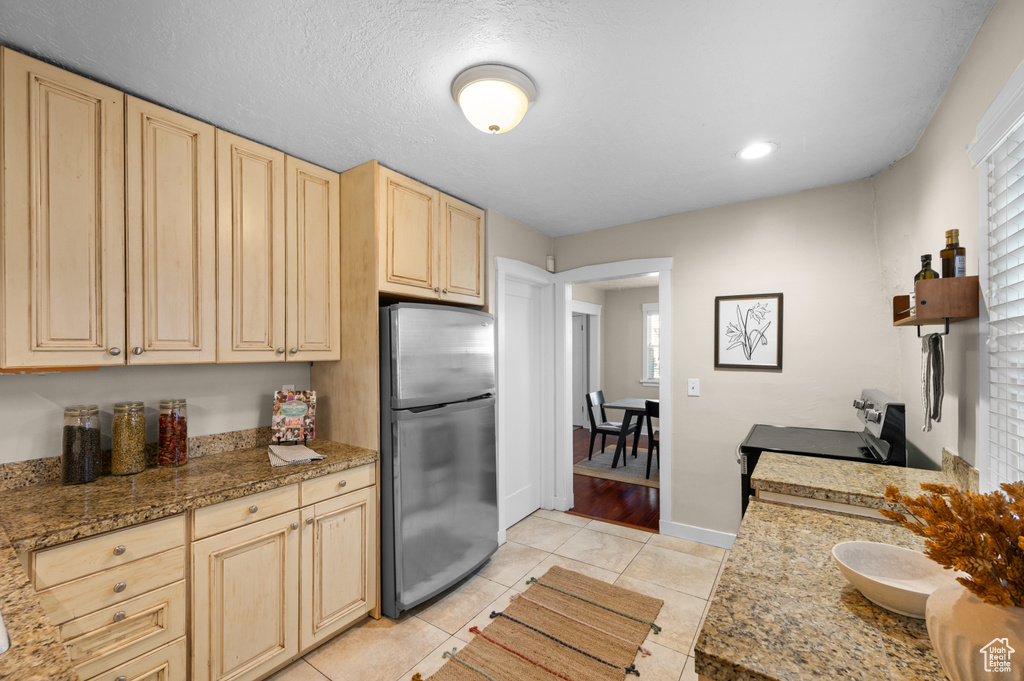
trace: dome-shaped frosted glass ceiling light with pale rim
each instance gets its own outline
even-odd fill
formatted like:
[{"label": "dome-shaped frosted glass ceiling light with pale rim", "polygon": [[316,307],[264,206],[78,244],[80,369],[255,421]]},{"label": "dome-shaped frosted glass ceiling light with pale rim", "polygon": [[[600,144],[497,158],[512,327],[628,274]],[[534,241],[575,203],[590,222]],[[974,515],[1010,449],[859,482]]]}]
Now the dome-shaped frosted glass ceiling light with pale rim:
[{"label": "dome-shaped frosted glass ceiling light with pale rim", "polygon": [[519,125],[537,99],[537,87],[521,71],[482,63],[455,77],[452,98],[474,128],[500,135]]}]

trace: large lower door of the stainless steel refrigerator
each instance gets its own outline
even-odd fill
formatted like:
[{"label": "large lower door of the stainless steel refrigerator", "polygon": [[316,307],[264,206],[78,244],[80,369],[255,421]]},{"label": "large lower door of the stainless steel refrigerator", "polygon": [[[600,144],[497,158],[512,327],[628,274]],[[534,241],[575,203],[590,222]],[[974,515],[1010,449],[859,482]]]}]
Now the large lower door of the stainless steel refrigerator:
[{"label": "large lower door of the stainless steel refrigerator", "polygon": [[382,550],[394,568],[381,588],[384,613],[397,616],[498,550],[495,399],[390,416]]}]

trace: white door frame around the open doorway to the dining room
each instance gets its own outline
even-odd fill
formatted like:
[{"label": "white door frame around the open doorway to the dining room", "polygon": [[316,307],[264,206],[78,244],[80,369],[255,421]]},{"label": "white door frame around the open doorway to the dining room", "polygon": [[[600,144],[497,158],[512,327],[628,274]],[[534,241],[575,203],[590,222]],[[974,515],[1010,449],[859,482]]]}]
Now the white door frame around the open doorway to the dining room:
[{"label": "white door frame around the open doorway to the dining room", "polygon": [[[554,275],[555,326],[554,379],[555,379],[555,452],[554,452],[554,508],[567,511],[572,508],[572,285],[600,282],[609,279],[639,276],[658,273],[658,314],[660,315],[662,381],[658,398],[662,411],[668,418],[659,420],[658,449],[669,455],[660,460],[660,523],[672,523],[672,258],[644,258],[587,265]],[[544,466],[541,467],[542,475]]]}]

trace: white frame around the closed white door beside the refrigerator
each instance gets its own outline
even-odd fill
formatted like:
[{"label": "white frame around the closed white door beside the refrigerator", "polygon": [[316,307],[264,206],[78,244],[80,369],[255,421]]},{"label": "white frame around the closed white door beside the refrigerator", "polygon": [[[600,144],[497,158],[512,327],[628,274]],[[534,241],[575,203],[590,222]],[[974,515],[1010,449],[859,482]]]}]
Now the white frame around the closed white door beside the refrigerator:
[{"label": "white frame around the closed white door beside the refrigerator", "polygon": [[[502,400],[502,384],[505,382],[505,377],[507,376],[508,367],[506,366],[506,348],[505,348],[505,294],[506,287],[509,280],[516,280],[534,286],[545,287],[545,290],[541,291],[541,343],[540,348],[542,352],[541,356],[541,385],[542,386],[552,386],[554,385],[554,366],[555,366],[555,343],[554,339],[554,321],[555,321],[555,306],[553,300],[554,291],[554,274],[542,269],[540,267],[535,267],[534,265],[527,264],[525,262],[520,262],[518,260],[512,260],[510,258],[495,258],[495,336],[497,343],[497,386],[498,386],[498,396],[497,396],[497,413],[498,419],[496,425],[496,435],[498,438],[498,543],[505,543],[505,529],[506,529],[506,514],[507,509],[505,508],[505,475],[504,475],[504,465],[505,459],[508,456],[508,451],[510,442],[506,441],[505,437],[513,436],[511,427],[508,427],[506,432],[506,424],[509,423],[510,417],[507,413],[506,403]],[[571,371],[571,367],[569,368]],[[570,388],[571,389],[571,388]],[[570,393],[571,394],[571,393]],[[540,412],[544,416],[541,422],[541,441],[547,442],[548,446],[541,452],[541,508],[553,508],[554,500],[552,499],[552,484],[553,476],[550,473],[550,468],[552,463],[555,461],[554,450],[554,411],[555,411],[555,400],[551,390],[542,390],[540,395],[537,395],[540,400]],[[569,408],[571,412],[571,407]],[[570,479],[571,482],[571,479]],[[571,484],[569,485],[571,490]]]}]

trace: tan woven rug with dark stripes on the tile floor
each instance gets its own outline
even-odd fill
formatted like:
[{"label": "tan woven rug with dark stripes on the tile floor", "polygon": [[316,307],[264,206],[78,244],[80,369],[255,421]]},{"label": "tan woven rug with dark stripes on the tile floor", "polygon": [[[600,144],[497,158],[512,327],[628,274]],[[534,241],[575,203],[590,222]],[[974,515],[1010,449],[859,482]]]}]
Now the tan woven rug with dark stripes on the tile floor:
[{"label": "tan woven rug with dark stripes on the tile floor", "polygon": [[428,681],[623,681],[663,604],[553,566]]}]

